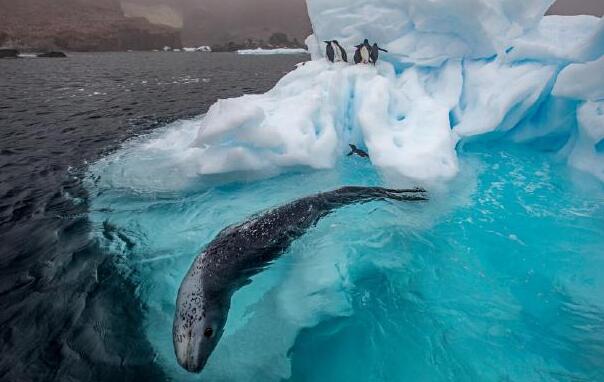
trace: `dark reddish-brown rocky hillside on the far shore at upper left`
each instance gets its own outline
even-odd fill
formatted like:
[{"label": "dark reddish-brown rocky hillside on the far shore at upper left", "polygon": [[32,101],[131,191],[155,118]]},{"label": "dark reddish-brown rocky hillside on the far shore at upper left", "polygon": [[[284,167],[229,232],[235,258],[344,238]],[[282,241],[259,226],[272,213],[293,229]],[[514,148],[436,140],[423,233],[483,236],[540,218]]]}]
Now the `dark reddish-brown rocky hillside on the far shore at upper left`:
[{"label": "dark reddish-brown rocky hillside on the far shore at upper left", "polygon": [[180,31],[124,15],[119,0],[0,0],[0,46],[73,51],[181,47]]}]

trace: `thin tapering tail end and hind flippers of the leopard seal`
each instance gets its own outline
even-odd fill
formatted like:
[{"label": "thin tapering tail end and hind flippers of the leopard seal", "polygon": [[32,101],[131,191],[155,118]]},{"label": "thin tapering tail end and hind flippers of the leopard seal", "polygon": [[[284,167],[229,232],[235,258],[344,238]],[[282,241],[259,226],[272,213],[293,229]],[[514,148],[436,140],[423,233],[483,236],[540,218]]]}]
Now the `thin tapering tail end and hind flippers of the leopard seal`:
[{"label": "thin tapering tail end and hind flippers of the leopard seal", "polygon": [[426,201],[426,190],[422,188],[391,189],[382,187],[343,187],[335,191],[326,192],[322,196],[326,199],[331,209],[339,208],[354,203],[367,203],[375,200],[397,201]]}]

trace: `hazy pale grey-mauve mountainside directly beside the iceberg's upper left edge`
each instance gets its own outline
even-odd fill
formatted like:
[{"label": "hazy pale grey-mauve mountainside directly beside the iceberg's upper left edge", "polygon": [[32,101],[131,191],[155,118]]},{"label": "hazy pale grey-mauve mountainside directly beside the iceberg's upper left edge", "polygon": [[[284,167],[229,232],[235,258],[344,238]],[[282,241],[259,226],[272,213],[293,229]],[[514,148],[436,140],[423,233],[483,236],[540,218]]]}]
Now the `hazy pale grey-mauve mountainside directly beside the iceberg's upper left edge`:
[{"label": "hazy pale grey-mauve mountainside directly beside the iceberg's upper left edge", "polygon": [[187,46],[236,45],[285,33],[303,43],[311,34],[305,0],[123,0],[127,15],[182,28]]}]

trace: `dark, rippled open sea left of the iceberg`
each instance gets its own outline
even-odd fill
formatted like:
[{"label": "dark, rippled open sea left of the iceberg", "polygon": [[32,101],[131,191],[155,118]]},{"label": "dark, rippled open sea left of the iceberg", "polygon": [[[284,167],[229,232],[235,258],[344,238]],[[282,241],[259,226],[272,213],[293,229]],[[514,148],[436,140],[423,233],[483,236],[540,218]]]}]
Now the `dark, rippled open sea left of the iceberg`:
[{"label": "dark, rippled open sea left of the iceberg", "polygon": [[265,92],[304,56],[73,54],[0,61],[0,380],[164,380],[136,285],[89,235],[87,163]]}]

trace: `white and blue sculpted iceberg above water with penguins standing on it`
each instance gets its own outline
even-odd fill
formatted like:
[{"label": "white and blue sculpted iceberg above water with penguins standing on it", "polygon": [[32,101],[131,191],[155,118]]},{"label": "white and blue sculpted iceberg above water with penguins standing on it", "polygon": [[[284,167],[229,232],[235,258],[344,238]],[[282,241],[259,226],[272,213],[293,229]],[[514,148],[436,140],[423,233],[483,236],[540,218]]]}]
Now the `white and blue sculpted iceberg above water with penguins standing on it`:
[{"label": "white and blue sculpted iceberg above water with penguins standing on it", "polygon": [[[307,0],[313,60],[271,91],[220,100],[190,150],[197,173],[331,168],[348,143],[384,172],[458,172],[460,142],[557,151],[604,180],[604,20],[546,16],[553,0]],[[376,66],[332,64],[364,38]]]}]

